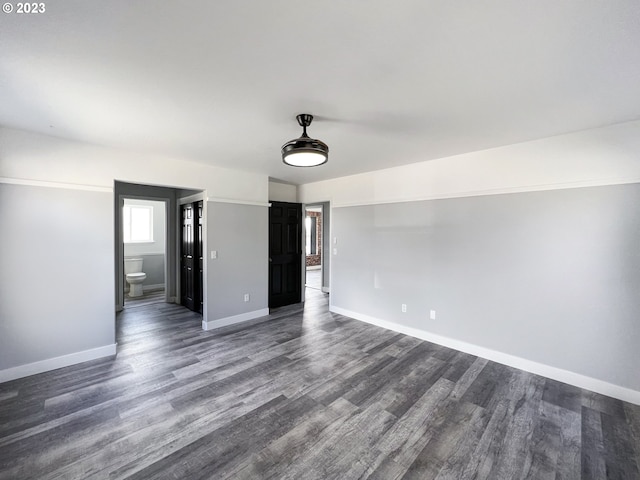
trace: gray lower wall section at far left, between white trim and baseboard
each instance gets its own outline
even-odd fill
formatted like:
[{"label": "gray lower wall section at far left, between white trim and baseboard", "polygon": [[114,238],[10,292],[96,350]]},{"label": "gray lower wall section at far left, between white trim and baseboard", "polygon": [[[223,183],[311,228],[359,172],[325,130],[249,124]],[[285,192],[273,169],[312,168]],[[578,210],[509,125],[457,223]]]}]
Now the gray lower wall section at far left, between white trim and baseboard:
[{"label": "gray lower wall section at far left, between white trim and baseboard", "polygon": [[113,345],[110,192],[0,184],[0,370]]}]

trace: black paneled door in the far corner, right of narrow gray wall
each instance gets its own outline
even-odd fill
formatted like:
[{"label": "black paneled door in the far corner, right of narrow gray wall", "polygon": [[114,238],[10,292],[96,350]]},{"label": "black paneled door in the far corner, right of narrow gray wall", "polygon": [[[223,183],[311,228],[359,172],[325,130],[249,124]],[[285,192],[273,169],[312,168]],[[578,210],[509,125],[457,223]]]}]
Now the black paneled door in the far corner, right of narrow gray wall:
[{"label": "black paneled door in the far corner, right of narrow gray wall", "polygon": [[271,202],[269,209],[269,307],[301,301],[302,205]]}]

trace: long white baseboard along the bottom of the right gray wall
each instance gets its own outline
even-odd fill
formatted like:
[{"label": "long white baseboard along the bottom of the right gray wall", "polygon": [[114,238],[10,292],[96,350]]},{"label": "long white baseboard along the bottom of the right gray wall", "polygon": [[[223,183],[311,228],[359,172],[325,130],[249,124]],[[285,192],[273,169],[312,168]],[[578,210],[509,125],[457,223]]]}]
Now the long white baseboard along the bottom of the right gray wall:
[{"label": "long white baseboard along the bottom of the right gray wall", "polygon": [[399,325],[388,320],[382,320],[379,318],[371,317],[369,315],[360,314],[344,308],[330,305],[329,310],[344,315],[346,317],[354,318],[362,322],[370,323],[378,327],[386,328],[394,332],[409,335],[411,337],[419,338],[420,340],[426,340],[427,342],[436,343],[444,347],[452,348],[460,352],[475,355],[476,357],[486,358],[493,362],[501,363],[509,367],[518,368],[525,372],[535,373],[552,380],[568,383],[575,387],[591,390],[592,392],[601,393],[609,397],[614,397],[625,402],[640,405],[640,392],[632,390],[630,388],[614,385],[604,380],[598,380],[596,378],[587,377],[579,373],[570,372],[569,370],[563,370],[561,368],[552,367],[543,363],[534,362],[525,358],[516,357],[515,355],[509,355],[507,353],[491,350],[490,348],[473,345],[471,343],[455,340],[449,337],[443,337],[424,330],[419,330],[413,327],[407,327]]}]

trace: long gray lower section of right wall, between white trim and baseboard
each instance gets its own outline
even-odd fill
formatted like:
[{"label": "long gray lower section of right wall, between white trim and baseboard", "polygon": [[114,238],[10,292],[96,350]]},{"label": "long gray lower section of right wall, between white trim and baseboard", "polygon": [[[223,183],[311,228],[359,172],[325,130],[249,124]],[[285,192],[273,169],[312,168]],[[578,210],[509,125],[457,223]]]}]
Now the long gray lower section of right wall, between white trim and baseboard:
[{"label": "long gray lower section of right wall, between white trim and baseboard", "polygon": [[331,303],[640,390],[639,205],[628,184],[334,208]]}]

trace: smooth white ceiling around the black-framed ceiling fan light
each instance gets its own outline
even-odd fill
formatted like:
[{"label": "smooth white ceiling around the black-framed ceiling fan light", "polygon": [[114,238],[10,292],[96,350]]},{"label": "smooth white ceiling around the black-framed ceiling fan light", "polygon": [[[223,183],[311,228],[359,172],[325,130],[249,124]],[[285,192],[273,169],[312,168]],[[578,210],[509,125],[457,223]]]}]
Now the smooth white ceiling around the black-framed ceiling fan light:
[{"label": "smooth white ceiling around the black-framed ceiling fan light", "polygon": [[[316,116],[328,164],[282,164],[298,113]],[[297,184],[639,117],[637,0],[55,0],[0,14],[0,125]]]}]

